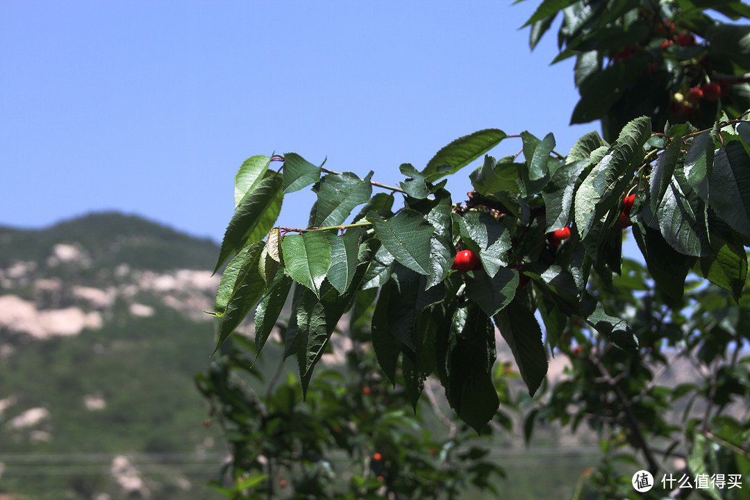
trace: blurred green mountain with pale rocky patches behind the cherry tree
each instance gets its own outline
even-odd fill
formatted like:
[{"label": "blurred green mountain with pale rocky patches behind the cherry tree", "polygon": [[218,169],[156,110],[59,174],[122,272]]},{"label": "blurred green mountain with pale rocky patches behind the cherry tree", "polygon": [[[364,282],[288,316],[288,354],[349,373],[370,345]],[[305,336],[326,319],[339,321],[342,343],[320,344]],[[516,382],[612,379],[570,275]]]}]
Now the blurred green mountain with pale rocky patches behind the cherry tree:
[{"label": "blurred green mountain with pale rocky patches behind the cherry tree", "polygon": [[141,217],[0,227],[0,499],[216,499],[218,247]]}]

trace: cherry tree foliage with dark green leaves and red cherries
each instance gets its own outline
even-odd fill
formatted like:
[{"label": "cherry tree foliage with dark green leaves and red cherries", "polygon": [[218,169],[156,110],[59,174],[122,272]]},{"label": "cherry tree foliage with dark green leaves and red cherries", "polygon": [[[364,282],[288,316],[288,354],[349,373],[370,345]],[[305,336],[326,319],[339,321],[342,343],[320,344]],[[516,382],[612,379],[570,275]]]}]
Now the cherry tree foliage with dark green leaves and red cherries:
[{"label": "cherry tree foliage with dark green leaves and red cherries", "polygon": [[[320,457],[334,450],[350,455],[354,472],[348,493],[327,498],[458,498],[470,482],[461,478],[489,484],[495,469],[478,448],[440,454],[436,466],[423,460],[435,447],[431,436],[417,433],[401,446],[377,439],[419,428],[423,410],[414,418],[393,412],[416,410],[433,375],[455,415],[477,433],[510,426],[503,409],[518,400],[508,391],[514,370],[495,366],[497,328],[534,397],[526,438],[538,421],[571,430],[585,423],[600,436],[605,460],[583,475],[575,498],[748,498],[750,302],[742,292],[750,244],[750,26],[721,22],[708,8],[750,19],[739,1],[541,2],[526,23],[531,46],[562,13],[556,60],[577,58],[581,94],[571,121],[602,123],[604,137],[588,133],[568,154],[555,151],[552,133],[538,139],[479,130],[422,169],[401,165],[398,186],[293,153],[243,163],[215,268],[228,262],[213,313],[217,350],[231,342],[198,379],[233,443],[237,483],[225,486],[227,496],[270,498],[283,463],[304,471],[282,497],[320,498]],[[519,140],[523,157],[487,155],[506,140]],[[469,175],[469,199],[454,202],[446,177],[482,155]],[[275,161],[278,171],[270,169]],[[274,227],[284,196],[308,186],[317,193],[308,226]],[[623,233],[631,233],[646,267],[622,258]],[[232,382],[236,370],[252,365],[238,350],[248,341],[230,334],[254,310],[254,343],[245,349],[260,353],[287,298],[291,317],[278,330],[284,358],[298,361],[299,394],[283,385],[256,397]],[[342,331],[346,313],[365,327]],[[361,349],[350,352],[353,371],[344,375],[354,385],[341,390],[341,381],[313,372],[332,336],[344,334]],[[555,352],[571,367],[564,381],[547,385],[547,355]],[[682,361],[697,381],[669,385],[661,375]],[[361,381],[377,381],[370,390],[379,397],[389,385],[402,388],[379,407],[376,433],[356,417],[362,405],[371,408],[361,394],[371,386]],[[302,409],[305,396],[311,403]],[[333,430],[326,424],[332,414],[343,419],[330,421]],[[271,415],[284,417],[272,423]],[[310,428],[294,434],[298,421]],[[336,437],[337,426],[353,433],[351,442]],[[275,439],[289,441],[280,450]],[[441,449],[464,437],[452,439]],[[370,452],[398,467],[374,469],[380,460],[373,463]],[[453,476],[457,463],[473,473]],[[653,475],[648,493],[631,485],[639,469]],[[383,481],[368,482],[373,475]],[[318,490],[308,488],[311,478]]]}]

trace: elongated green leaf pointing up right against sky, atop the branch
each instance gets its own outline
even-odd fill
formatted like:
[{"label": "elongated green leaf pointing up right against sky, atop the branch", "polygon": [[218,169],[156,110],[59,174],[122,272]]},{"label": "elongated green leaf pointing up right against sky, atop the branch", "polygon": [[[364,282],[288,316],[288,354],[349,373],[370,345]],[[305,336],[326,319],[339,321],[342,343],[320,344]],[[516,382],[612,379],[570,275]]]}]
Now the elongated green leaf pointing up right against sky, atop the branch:
[{"label": "elongated green leaf pointing up right against sky, atop the branch", "polygon": [[490,151],[506,136],[502,130],[488,128],[460,137],[438,151],[422,170],[422,175],[425,175],[428,181],[434,182],[445,175],[458,172]]}]

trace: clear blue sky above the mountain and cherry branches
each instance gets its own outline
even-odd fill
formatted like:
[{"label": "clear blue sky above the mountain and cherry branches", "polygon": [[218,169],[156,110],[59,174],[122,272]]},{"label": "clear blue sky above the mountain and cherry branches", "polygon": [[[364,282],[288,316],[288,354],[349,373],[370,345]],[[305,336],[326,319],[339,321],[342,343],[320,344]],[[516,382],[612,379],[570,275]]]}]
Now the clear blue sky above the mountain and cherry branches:
[{"label": "clear blue sky above the mountain and cherry branches", "polygon": [[[519,30],[539,3],[3,0],[0,224],[118,210],[220,241],[255,154],[392,185],[487,127],[553,132],[566,154],[599,125],[568,127],[556,28],[534,52]],[[313,200],[285,197],[278,223],[304,226]]]}]

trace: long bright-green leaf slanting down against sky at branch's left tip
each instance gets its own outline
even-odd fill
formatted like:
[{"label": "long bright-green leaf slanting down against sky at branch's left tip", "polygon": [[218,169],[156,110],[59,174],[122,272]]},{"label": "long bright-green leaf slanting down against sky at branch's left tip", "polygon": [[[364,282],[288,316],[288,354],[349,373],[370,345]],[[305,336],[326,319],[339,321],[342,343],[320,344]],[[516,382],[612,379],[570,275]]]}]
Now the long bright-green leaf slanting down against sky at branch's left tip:
[{"label": "long bright-green leaf slanting down against sky at branch's left tip", "polygon": [[269,172],[266,174],[253,190],[248,191],[229,221],[214,273],[233,253],[266,236],[281,213],[281,202],[284,199],[281,193],[281,176]]}]

